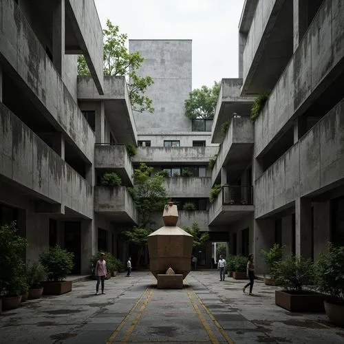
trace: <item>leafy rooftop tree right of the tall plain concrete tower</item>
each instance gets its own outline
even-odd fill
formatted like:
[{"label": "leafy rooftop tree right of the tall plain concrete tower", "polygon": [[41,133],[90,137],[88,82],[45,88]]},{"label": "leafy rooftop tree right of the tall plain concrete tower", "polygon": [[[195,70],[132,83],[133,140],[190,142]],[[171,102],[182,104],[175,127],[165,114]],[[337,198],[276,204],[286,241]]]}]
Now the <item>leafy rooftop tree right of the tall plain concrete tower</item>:
[{"label": "leafy rooftop tree right of the tall plain concrete tower", "polygon": [[193,89],[189,94],[189,99],[185,100],[185,116],[190,119],[214,118],[219,97],[221,83],[214,82],[213,87],[203,85],[201,88]]}]

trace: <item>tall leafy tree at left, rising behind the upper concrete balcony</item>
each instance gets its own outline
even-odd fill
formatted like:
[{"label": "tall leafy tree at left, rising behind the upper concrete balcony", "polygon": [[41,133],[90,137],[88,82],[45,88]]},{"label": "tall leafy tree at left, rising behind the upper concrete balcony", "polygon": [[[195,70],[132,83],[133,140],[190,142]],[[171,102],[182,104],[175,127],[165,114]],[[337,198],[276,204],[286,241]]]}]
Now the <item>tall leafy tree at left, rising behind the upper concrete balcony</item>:
[{"label": "tall leafy tree at left, rising behind the upper concrete balcony", "polygon": [[[142,65],[144,58],[140,52],[129,53],[125,43],[127,34],[120,34],[118,25],[107,19],[106,28],[103,30],[104,55],[103,67],[105,75],[129,76],[129,98],[133,110],[138,112],[154,112],[152,100],[144,96],[147,87],[153,85],[150,76],[138,76],[136,70]],[[89,75],[86,60],[83,55],[78,56],[78,74]]]}]

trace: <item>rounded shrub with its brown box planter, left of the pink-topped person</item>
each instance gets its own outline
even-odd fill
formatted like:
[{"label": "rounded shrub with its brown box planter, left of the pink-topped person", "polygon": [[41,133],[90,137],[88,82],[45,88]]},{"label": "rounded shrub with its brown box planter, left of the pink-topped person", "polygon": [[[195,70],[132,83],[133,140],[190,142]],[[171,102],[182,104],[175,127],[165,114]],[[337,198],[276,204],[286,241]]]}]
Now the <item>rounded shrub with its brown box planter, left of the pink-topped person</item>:
[{"label": "rounded shrub with its brown box planter, left of the pink-topped person", "polygon": [[41,253],[39,262],[47,274],[47,281],[41,282],[43,294],[60,295],[72,290],[72,281],[65,281],[65,278],[73,269],[74,253],[56,245]]}]

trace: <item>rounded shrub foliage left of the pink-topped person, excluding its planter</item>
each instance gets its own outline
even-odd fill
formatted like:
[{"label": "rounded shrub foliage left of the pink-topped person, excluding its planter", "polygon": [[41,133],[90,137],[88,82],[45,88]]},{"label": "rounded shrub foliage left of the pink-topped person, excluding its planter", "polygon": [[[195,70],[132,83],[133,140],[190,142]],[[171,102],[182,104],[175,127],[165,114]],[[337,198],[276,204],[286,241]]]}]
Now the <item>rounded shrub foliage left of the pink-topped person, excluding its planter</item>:
[{"label": "rounded shrub foliage left of the pink-topped person, excluding its planter", "polygon": [[56,245],[39,255],[48,281],[63,281],[72,272],[74,266],[74,253],[63,250]]}]

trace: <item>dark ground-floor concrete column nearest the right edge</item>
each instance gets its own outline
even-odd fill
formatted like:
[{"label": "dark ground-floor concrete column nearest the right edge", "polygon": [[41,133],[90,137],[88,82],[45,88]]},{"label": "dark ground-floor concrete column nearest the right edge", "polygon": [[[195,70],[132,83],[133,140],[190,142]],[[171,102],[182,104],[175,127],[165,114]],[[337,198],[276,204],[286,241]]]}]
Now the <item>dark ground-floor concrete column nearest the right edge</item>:
[{"label": "dark ground-floor concrete column nearest the right edge", "polygon": [[331,236],[330,201],[316,202],[314,207],[314,261],[327,251]]}]

